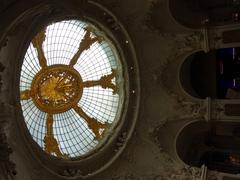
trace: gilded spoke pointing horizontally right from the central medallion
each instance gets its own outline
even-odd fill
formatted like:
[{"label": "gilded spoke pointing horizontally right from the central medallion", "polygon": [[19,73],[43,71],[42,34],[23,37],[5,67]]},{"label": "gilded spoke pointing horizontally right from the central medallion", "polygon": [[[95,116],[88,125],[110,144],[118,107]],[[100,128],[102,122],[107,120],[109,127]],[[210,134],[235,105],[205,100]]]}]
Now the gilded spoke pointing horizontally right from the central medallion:
[{"label": "gilded spoke pointing horizontally right from the central medallion", "polygon": [[102,76],[97,81],[85,81],[83,82],[83,87],[93,87],[93,86],[101,86],[104,89],[110,88],[113,90],[113,94],[117,93],[117,86],[113,84],[113,79],[116,77],[116,70],[112,69],[112,73]]}]

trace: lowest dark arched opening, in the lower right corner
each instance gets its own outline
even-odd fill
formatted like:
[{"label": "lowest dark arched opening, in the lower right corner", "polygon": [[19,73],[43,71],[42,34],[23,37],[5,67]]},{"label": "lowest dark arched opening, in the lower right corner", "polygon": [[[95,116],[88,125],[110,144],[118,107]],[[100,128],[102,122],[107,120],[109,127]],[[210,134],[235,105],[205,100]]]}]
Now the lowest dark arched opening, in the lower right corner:
[{"label": "lowest dark arched opening, in the lower right corner", "polygon": [[240,172],[240,125],[234,122],[194,122],[179,134],[176,148],[188,165],[225,173]]}]

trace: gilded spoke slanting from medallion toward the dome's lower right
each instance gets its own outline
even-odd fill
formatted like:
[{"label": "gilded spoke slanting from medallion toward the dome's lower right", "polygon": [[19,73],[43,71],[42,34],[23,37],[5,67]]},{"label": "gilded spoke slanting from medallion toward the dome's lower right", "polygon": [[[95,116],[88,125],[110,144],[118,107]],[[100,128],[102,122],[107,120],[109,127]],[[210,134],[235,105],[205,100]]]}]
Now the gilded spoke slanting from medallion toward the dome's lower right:
[{"label": "gilded spoke slanting from medallion toward the dome's lower right", "polygon": [[[75,106],[73,109],[86,121],[88,127],[92,130],[97,140],[103,138],[104,132],[110,126],[109,123],[101,123],[95,118],[89,117],[79,106]],[[100,130],[102,130],[102,132],[100,132]]]}]

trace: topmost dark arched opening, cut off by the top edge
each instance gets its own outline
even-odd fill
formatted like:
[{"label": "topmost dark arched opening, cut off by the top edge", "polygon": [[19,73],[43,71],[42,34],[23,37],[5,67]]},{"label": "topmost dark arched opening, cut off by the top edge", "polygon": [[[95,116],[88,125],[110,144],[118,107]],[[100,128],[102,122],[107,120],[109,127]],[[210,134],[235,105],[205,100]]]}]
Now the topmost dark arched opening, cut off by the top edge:
[{"label": "topmost dark arched opening, cut off by the top edge", "polygon": [[189,28],[239,23],[238,0],[170,0],[172,16]]}]

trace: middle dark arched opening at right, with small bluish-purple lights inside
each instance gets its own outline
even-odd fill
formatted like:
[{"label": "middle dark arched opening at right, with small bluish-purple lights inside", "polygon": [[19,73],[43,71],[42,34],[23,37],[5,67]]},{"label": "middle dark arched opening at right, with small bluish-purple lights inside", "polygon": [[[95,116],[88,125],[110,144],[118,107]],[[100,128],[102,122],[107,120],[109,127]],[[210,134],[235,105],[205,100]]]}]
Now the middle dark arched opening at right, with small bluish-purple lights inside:
[{"label": "middle dark arched opening at right, with small bluish-purple lights inside", "polygon": [[193,97],[240,98],[240,48],[196,52],[181,67],[180,81]]}]

